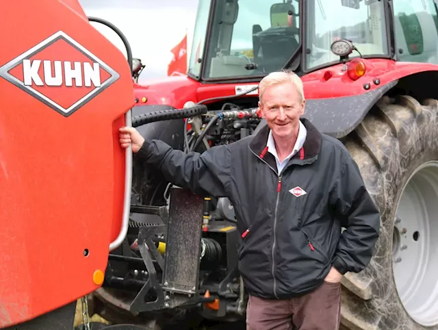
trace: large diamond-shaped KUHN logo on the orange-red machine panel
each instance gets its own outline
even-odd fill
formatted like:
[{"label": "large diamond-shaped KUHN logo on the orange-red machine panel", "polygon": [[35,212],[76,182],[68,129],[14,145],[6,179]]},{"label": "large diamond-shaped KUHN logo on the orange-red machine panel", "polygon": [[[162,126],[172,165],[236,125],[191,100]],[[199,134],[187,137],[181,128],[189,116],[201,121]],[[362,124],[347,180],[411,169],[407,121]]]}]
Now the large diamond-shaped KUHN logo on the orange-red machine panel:
[{"label": "large diamond-shaped KUHN logo on the orange-red machine panel", "polygon": [[58,31],[1,66],[0,77],[68,117],[114,84],[120,75]]}]

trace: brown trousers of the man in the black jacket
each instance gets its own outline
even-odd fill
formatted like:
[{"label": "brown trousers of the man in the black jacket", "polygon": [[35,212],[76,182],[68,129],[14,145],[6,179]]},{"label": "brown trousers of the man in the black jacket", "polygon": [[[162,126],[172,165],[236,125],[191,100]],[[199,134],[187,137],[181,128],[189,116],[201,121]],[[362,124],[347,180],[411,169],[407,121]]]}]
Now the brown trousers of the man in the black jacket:
[{"label": "brown trousers of the man in the black jacket", "polygon": [[341,283],[324,281],[319,288],[287,300],[250,296],[246,330],[338,330]]}]

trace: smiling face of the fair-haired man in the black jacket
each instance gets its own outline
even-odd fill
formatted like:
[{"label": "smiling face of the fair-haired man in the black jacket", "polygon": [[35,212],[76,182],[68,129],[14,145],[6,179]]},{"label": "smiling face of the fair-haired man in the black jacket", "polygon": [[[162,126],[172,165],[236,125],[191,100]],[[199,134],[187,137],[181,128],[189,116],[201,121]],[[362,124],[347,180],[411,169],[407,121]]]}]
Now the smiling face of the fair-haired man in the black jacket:
[{"label": "smiling face of the fair-haired man in the black jacket", "polygon": [[259,108],[274,136],[292,138],[298,132],[305,101],[292,83],[278,84],[264,90]]}]

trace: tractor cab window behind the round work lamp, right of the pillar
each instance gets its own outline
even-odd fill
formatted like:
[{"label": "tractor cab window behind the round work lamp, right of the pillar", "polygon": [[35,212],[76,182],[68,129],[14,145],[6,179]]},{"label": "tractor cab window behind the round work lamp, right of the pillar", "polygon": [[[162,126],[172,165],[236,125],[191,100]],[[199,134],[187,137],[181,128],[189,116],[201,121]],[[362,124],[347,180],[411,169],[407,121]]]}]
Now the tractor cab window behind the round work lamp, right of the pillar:
[{"label": "tractor cab window behind the round work lamp, right of the pillar", "polygon": [[339,38],[351,40],[363,56],[387,55],[384,1],[308,0],[305,11],[306,71],[339,61],[330,49]]}]

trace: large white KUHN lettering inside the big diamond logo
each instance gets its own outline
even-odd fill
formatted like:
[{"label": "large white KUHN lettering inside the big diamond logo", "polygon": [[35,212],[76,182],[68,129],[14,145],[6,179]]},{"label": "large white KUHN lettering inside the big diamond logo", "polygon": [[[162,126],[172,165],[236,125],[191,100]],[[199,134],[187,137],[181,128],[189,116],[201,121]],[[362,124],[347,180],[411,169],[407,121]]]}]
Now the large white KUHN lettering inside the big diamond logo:
[{"label": "large white KUHN lettering inside the big diamond logo", "polygon": [[[44,81],[38,73],[41,62]],[[99,63],[53,61],[53,68],[54,73],[52,71],[52,61],[49,60],[23,60],[23,82],[25,86],[31,86],[32,82],[36,86],[62,86],[63,83],[64,86],[73,86],[73,79],[75,79],[76,87],[91,87],[91,84],[95,87],[101,86]],[[64,72],[62,68],[64,68]]]}]

